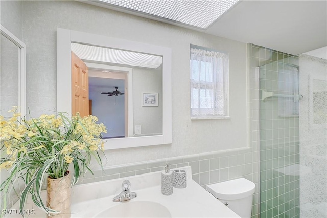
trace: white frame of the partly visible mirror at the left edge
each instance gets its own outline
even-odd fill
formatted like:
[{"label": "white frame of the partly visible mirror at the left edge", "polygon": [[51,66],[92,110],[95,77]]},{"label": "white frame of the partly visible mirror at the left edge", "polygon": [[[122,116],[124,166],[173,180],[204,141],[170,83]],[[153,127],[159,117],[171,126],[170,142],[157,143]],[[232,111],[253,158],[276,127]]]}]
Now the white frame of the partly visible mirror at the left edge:
[{"label": "white frame of the partly visible mirror at the left edge", "polygon": [[0,34],[19,48],[18,105],[12,106],[18,106],[21,116],[24,116],[26,114],[26,45],[2,25],[0,26]]}]

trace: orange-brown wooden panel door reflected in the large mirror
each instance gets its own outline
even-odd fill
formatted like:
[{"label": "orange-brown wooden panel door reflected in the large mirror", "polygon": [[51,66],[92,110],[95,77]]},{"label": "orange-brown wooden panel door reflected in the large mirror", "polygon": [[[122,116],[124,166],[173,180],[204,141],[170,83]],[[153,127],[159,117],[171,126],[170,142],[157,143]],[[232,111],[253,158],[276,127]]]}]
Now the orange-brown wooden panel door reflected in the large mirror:
[{"label": "orange-brown wooden panel door reflected in the large mirror", "polygon": [[72,52],[72,115],[88,116],[88,67]]}]

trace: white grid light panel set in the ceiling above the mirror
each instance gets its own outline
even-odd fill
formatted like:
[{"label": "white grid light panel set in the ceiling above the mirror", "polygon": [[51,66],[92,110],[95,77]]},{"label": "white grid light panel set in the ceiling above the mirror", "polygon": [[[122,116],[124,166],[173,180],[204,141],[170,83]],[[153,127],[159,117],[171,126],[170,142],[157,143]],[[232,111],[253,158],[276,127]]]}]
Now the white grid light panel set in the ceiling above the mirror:
[{"label": "white grid light panel set in the ceiling above the mirror", "polygon": [[206,29],[239,0],[100,0],[113,7]]}]

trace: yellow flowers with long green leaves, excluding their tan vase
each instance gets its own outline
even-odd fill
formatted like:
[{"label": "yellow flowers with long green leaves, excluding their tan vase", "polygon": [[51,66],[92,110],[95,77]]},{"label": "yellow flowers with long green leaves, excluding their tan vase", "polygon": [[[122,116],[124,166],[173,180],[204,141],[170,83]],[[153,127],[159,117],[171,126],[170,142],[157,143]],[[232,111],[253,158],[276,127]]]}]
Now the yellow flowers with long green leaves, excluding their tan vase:
[{"label": "yellow flowers with long green leaves, excluding their tan vase", "polygon": [[68,118],[67,113],[56,112],[38,118],[28,114],[19,119],[17,111],[18,108],[13,107],[13,116],[9,119],[0,116],[0,169],[9,171],[8,178],[0,185],[1,209],[6,208],[8,192],[20,178],[25,183],[20,196],[20,211],[24,210],[31,194],[35,205],[48,216],[59,213],[41,199],[44,178],[62,178],[73,164],[72,186],[87,170],[92,173],[89,168],[91,157],[102,167],[99,152],[103,152],[101,133],[105,133],[106,128],[92,115],[82,118],[77,114]]}]

